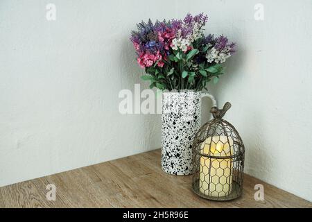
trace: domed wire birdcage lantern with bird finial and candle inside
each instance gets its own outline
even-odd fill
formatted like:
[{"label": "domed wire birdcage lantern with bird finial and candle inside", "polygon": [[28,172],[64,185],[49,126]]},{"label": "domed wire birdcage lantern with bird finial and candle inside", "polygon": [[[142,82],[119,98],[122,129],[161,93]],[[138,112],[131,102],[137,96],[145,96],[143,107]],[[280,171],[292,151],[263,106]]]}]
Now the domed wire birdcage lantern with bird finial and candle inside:
[{"label": "domed wire birdcage lantern with bird finial and candle inside", "polygon": [[232,200],[243,192],[245,147],[237,130],[223,116],[231,108],[211,108],[193,142],[193,191],[209,200]]}]

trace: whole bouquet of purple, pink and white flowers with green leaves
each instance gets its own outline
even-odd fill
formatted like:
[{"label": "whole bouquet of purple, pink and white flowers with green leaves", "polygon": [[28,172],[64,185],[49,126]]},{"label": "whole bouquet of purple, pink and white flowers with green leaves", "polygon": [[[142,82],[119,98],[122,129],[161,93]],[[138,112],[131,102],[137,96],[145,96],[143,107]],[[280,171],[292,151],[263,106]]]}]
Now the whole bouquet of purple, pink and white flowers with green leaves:
[{"label": "whole bouquet of purple, pink and white flowers with green leaves", "polygon": [[235,51],[227,37],[204,34],[208,20],[203,13],[188,14],[183,20],[141,22],[130,40],[137,62],[145,69],[143,80],[150,88],[200,91],[212,78],[223,74],[221,65]]}]

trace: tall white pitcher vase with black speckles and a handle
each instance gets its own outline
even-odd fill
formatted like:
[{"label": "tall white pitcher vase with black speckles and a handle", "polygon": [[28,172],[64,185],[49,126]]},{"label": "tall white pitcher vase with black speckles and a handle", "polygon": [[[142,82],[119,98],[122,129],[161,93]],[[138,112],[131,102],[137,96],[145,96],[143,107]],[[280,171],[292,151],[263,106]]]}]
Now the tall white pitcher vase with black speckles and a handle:
[{"label": "tall white pitcher vase with black speckles and a handle", "polygon": [[174,175],[192,173],[192,144],[200,128],[201,98],[205,92],[164,92],[162,94],[162,170]]}]

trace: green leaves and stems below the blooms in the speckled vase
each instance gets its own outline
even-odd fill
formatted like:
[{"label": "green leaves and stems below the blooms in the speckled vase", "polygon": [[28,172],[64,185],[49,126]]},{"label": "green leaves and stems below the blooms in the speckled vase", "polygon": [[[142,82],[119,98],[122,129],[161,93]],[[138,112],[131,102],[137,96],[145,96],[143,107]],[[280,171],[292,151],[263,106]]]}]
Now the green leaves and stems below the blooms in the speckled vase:
[{"label": "green leaves and stems below the blooms in the speckled vase", "polygon": [[151,67],[146,67],[146,75],[141,76],[141,79],[150,81],[150,88],[157,87],[168,90],[193,89],[200,91],[211,80],[217,84],[218,76],[223,74],[223,66],[209,63],[205,59],[202,59],[203,62],[197,63],[198,58],[205,57],[208,47],[199,42],[194,42],[194,46],[198,49],[192,49],[186,53],[174,50],[164,60],[163,67],[157,66],[157,62]]}]

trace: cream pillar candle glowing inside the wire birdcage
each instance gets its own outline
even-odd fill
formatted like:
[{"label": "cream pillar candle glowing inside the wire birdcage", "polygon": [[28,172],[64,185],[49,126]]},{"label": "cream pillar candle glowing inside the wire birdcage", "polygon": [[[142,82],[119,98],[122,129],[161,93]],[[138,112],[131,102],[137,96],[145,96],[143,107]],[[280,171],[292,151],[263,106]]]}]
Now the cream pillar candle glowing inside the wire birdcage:
[{"label": "cream pillar candle glowing inside the wire birdcage", "polygon": [[[229,157],[233,153],[233,139],[227,136],[208,137],[201,153],[214,157]],[[199,187],[208,196],[227,196],[232,189],[231,158],[200,157]]]}]

